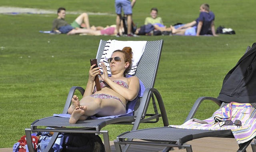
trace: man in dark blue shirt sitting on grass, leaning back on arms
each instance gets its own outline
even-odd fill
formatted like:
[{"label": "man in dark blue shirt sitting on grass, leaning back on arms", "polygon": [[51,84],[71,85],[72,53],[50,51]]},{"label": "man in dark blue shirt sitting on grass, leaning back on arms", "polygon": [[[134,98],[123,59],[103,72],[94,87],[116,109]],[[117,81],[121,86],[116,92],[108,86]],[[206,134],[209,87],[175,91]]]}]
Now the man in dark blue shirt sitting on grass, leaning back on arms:
[{"label": "man in dark blue shirt sitting on grass, leaning back on arms", "polygon": [[210,6],[204,3],[200,6],[200,14],[196,20],[180,26],[177,29],[171,26],[172,34],[192,36],[212,34],[213,36],[218,36],[215,32],[214,19],[215,15],[210,11]]}]

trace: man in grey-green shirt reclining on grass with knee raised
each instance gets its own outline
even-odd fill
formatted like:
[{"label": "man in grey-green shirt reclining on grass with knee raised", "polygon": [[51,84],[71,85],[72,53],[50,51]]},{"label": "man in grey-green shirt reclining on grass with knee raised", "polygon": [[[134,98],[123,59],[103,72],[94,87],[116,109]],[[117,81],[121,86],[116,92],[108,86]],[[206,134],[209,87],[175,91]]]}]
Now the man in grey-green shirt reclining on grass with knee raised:
[{"label": "man in grey-green shirt reclining on grass with knee raised", "polygon": [[57,10],[58,17],[52,22],[52,31],[57,33],[68,33],[73,29],[76,28],[87,28],[90,29],[90,23],[87,13],[80,14],[74,22],[68,24],[65,21],[66,16],[66,9],[65,8],[58,8]]}]

